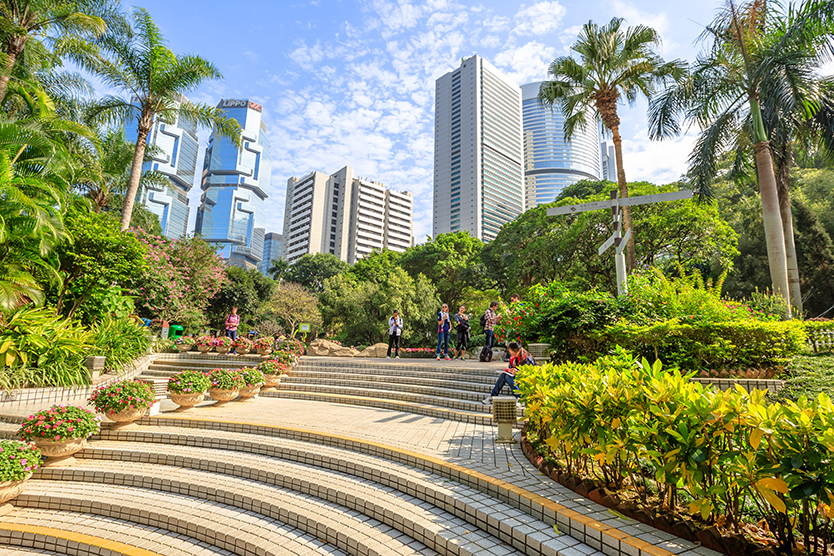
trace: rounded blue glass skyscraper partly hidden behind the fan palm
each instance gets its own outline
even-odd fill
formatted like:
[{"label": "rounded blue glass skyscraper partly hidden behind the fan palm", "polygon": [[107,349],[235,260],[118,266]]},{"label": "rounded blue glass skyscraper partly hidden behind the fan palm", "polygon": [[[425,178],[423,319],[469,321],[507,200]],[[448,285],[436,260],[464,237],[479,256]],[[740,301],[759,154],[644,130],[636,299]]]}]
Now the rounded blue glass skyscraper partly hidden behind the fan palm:
[{"label": "rounded blue glass skyscraper partly hidden behind the fan palm", "polygon": [[565,117],[558,106],[539,103],[541,82],[521,86],[524,114],[524,187],[528,209],[550,203],[579,180],[600,179],[599,128],[588,122],[565,141]]}]

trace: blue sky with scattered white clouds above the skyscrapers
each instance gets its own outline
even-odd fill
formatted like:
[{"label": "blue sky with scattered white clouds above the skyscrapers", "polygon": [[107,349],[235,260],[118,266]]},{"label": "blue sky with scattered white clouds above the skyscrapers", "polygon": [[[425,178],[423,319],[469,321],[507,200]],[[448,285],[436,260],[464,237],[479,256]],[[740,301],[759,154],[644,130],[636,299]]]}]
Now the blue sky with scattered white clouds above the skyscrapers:
[{"label": "blue sky with scattered white clouds above the skyscrapers", "polygon": [[[431,233],[434,82],[478,54],[518,84],[546,78],[568,54],[579,26],[611,17],[650,25],[661,54],[692,60],[715,2],[658,0],[540,2],[144,0],[176,53],[199,54],[225,79],[192,100],[249,98],[264,106],[272,143],[267,231],[283,229],[286,182],[311,170],[352,166],[363,177],[415,195],[414,235]],[[691,134],[663,143],[646,136],[645,104],[624,107],[629,181],[667,183],[686,169]],[[198,174],[208,132],[200,133]],[[198,177],[199,179],[199,177]],[[199,206],[191,192],[191,223]]]}]

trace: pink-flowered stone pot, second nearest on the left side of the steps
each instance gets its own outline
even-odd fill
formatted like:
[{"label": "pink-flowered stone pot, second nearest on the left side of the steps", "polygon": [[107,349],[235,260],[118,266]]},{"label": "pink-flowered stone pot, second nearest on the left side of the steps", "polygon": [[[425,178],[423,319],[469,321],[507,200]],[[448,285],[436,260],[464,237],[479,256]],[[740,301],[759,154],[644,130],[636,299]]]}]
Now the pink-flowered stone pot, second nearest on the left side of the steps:
[{"label": "pink-flowered stone pot, second nearest on the left side of the steps", "polygon": [[47,457],[45,467],[71,465],[73,454],[83,450],[87,438],[98,433],[101,419],[92,411],[74,405],[53,405],[33,413],[17,431],[23,440],[34,442]]}]

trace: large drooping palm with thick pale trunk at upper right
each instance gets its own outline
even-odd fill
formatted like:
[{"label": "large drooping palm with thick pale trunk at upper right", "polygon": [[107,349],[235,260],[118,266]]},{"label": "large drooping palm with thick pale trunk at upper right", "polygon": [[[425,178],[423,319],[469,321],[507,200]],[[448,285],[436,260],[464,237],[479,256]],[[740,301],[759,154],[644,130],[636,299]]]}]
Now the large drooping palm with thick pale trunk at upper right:
[{"label": "large drooping palm with thick pale trunk at upper right", "polygon": [[[812,101],[817,87],[809,68],[818,60],[820,49],[830,49],[820,38],[830,37],[834,2],[808,0],[799,7],[789,5],[787,12],[788,25],[785,16],[764,0],[739,5],[728,0],[703,35],[712,39],[712,46],[698,56],[691,75],[652,101],[649,134],[657,139],[676,135],[680,120],[702,129],[689,160],[695,189],[702,197],[710,196],[718,160],[725,152],[736,153],[732,173],[740,173],[743,154],[752,149],[773,291],[784,297],[790,315],[783,224],[789,215],[783,215],[780,208],[770,139],[774,134],[784,135],[791,126],[776,124],[772,117],[766,120],[763,112],[793,114],[793,118],[804,112],[807,119],[818,110],[818,103]],[[771,124],[770,133],[766,123]],[[790,164],[792,157],[781,158]],[[789,197],[783,197],[789,205]]]}]

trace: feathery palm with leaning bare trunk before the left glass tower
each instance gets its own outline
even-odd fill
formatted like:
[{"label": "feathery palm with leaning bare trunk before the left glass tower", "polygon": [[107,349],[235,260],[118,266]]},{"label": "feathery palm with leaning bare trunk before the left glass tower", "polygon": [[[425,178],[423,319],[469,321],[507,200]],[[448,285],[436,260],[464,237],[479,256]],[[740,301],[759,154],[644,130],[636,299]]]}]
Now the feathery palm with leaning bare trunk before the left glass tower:
[{"label": "feathery palm with leaning bare trunk before the left glass tower", "polygon": [[205,127],[213,127],[219,134],[240,145],[240,126],[236,120],[227,118],[218,108],[192,103],[183,96],[206,80],[221,79],[217,68],[199,56],[171,52],[147,10],[134,10],[133,26],[134,33],[109,33],[97,40],[102,51],[110,55],[109,58],[84,61],[85,67],[106,85],[128,92],[132,97],[125,99],[108,95],[90,109],[94,121],[126,124],[135,118],[138,126],[122,211],[122,230],[130,226],[142,177],[146,139],[155,119],[176,122],[178,118],[185,118]]}]

